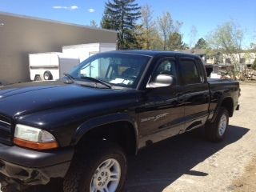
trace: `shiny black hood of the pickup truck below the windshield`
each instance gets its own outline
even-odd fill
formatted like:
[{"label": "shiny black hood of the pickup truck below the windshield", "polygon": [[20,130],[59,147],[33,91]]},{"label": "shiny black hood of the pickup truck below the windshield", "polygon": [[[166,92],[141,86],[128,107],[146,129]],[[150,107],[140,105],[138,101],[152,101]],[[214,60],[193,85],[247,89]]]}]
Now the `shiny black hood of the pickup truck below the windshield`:
[{"label": "shiny black hood of the pickup truck below the windshield", "polygon": [[[120,98],[126,90],[98,89],[63,82],[27,82],[0,87],[0,114],[14,118],[79,103]],[[129,92],[129,91],[128,91]]]}]

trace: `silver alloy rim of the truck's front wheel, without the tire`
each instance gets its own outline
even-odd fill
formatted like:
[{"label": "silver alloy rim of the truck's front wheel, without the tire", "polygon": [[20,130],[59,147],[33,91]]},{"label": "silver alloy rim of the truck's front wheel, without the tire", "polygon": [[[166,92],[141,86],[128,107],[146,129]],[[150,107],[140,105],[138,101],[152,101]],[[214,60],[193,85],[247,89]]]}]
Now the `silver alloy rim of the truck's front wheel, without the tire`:
[{"label": "silver alloy rim of the truck's front wheel, without the tire", "polygon": [[90,182],[90,192],[114,192],[121,178],[121,166],[114,158],[102,162]]}]

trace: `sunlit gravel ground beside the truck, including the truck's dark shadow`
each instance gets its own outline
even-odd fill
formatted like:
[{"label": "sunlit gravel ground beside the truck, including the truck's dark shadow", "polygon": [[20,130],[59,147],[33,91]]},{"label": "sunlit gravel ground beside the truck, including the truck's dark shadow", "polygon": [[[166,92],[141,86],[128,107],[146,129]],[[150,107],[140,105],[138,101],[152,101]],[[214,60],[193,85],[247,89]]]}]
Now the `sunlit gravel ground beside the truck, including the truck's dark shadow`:
[{"label": "sunlit gravel ground beside the truck, including the truck's dark shadow", "polygon": [[158,142],[129,159],[125,191],[256,191],[256,83],[242,83],[241,89],[241,108],[230,118],[225,141],[207,142],[196,130]]}]

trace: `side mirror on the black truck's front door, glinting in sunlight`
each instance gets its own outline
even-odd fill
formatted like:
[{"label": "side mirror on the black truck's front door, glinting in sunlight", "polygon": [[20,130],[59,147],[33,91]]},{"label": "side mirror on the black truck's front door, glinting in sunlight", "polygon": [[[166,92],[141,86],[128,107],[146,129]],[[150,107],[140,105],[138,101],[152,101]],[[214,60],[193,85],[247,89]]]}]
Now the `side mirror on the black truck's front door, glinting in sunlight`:
[{"label": "side mirror on the black truck's front door, glinting in sunlight", "polygon": [[147,88],[158,88],[165,86],[173,86],[175,82],[175,78],[169,74],[158,74],[158,76],[154,79],[154,82],[150,82],[147,84]]}]

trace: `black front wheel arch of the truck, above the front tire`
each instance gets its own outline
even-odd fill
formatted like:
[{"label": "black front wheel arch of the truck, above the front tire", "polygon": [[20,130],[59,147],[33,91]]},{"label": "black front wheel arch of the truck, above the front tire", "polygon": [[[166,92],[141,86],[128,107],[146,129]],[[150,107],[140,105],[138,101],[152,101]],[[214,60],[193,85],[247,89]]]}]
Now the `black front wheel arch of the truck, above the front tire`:
[{"label": "black front wheel arch of the truck, above the front tire", "polygon": [[127,154],[137,154],[138,126],[128,114],[111,114],[92,118],[82,123],[74,135],[71,145],[88,140],[117,142]]}]

